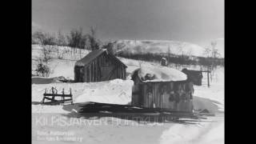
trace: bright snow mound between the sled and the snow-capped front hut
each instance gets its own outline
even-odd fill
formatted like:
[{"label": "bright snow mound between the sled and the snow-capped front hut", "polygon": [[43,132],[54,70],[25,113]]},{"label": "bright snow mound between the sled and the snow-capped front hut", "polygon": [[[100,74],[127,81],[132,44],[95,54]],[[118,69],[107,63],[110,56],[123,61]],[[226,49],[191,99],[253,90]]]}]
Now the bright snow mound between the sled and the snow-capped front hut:
[{"label": "bright snow mound between the sled and the snow-capped front hut", "polygon": [[109,82],[94,82],[94,87],[88,87],[74,99],[74,103],[102,102],[111,104],[128,104],[131,102],[131,92],[134,82],[131,80],[114,79]]}]

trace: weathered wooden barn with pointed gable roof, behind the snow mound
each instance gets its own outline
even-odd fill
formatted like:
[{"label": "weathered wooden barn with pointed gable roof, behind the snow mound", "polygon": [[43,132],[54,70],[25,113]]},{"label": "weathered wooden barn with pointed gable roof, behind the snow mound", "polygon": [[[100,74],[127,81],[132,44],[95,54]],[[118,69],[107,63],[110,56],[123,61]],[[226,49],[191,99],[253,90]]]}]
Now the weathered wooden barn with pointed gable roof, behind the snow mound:
[{"label": "weathered wooden barn with pointed gable roof, behind the snow mound", "polygon": [[75,62],[75,82],[101,82],[126,79],[126,65],[106,49],[93,50]]}]

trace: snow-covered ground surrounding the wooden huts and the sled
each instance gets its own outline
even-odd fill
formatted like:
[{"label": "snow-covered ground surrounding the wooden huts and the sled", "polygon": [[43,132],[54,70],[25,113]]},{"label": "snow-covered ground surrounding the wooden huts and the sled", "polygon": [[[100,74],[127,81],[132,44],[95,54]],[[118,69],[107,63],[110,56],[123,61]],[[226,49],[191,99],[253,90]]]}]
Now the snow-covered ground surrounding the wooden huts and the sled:
[{"label": "snow-covered ground surrounding the wooden huts and the sled", "polygon": [[[61,47],[60,51],[69,51],[68,47]],[[32,58],[40,55],[40,46],[32,46]],[[218,67],[210,82],[206,84],[206,75],[203,77],[202,86],[194,86],[194,108],[196,110],[207,109],[215,112],[215,117],[209,117],[205,122],[188,123],[139,123],[134,121],[124,122],[120,118],[76,118],[72,115],[74,107],[69,106],[42,106],[42,94],[46,88],[56,87],[58,92],[64,88],[69,93],[71,88],[74,102],[107,102],[116,104],[128,104],[131,100],[131,86],[133,82],[130,74],[139,67],[139,62],[132,59],[120,58],[128,66],[126,69],[127,80],[112,80],[108,82],[91,83],[51,83],[50,78],[63,76],[74,79],[74,62],[80,58],[79,51],[73,55],[65,52],[62,59],[58,59],[56,51],[54,59],[50,61],[50,77],[33,81],[42,84],[32,84],[32,143],[66,143],[67,139],[56,141],[56,138],[66,138],[60,132],[72,132],[74,143],[82,139],[82,143],[224,143],[224,68]],[[82,57],[89,51],[82,51]],[[66,54],[66,55],[65,55]],[[159,66],[154,62],[142,62],[144,67]],[[198,66],[178,66],[175,69],[182,70],[200,69]],[[35,61],[32,60],[32,69]],[[57,121],[56,118],[62,118]],[[63,120],[72,123],[68,126]],[[50,124],[49,122],[55,122]],[[82,123],[81,123],[82,121]],[[86,121],[86,122],[85,122]],[[38,123],[37,123],[38,122]],[[47,123],[48,122],[48,123]],[[79,123],[80,122],[80,123]],[[65,123],[65,122],[64,122]],[[75,124],[74,124],[75,123]],[[84,125],[86,123],[86,126]],[[74,124],[74,125],[73,125]],[[48,138],[42,139],[42,138]],[[55,138],[55,139],[54,139]],[[55,141],[54,141],[55,140]],[[74,139],[73,139],[74,140]],[[72,140],[69,140],[72,142]]]}]

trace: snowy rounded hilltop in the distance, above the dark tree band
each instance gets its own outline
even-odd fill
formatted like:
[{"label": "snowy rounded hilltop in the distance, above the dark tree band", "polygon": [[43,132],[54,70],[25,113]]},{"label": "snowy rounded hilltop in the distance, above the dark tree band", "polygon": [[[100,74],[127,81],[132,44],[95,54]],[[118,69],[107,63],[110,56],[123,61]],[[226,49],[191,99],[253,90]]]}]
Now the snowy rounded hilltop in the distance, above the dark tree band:
[{"label": "snowy rounded hilltop in the distance, above the dark tree band", "polygon": [[[132,54],[161,54],[167,53],[170,47],[171,54],[185,54],[202,56],[204,55],[204,48],[189,42],[178,42],[178,41],[160,41],[160,40],[119,40],[117,44],[124,44],[122,51]],[[222,57],[224,53],[222,50]]]}]

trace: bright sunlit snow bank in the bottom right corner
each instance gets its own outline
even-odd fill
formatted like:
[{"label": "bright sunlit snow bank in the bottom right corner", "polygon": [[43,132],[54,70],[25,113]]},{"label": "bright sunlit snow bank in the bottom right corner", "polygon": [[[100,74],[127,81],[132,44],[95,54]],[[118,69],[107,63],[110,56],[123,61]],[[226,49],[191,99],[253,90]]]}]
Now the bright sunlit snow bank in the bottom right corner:
[{"label": "bright sunlit snow bank in the bottom right corner", "polygon": [[224,122],[201,122],[200,125],[176,124],[162,133],[160,144],[224,144]]}]

